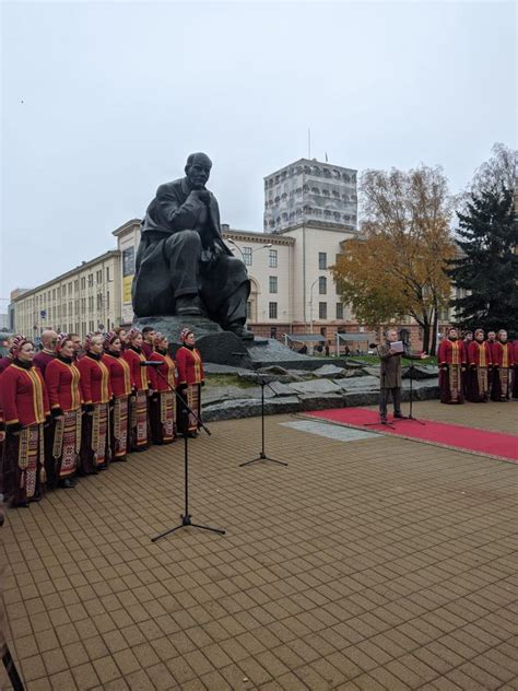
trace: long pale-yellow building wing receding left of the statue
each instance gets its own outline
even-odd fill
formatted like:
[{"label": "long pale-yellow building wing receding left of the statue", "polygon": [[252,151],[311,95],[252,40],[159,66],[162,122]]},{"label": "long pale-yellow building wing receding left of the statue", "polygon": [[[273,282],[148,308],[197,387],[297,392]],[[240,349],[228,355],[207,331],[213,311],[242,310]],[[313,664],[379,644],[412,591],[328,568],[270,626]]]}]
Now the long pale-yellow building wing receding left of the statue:
[{"label": "long pale-yellow building wing receding left of the statue", "polygon": [[111,249],[38,288],[11,295],[14,330],[38,340],[48,328],[81,338],[110,329],[121,319],[120,273],[120,253]]}]

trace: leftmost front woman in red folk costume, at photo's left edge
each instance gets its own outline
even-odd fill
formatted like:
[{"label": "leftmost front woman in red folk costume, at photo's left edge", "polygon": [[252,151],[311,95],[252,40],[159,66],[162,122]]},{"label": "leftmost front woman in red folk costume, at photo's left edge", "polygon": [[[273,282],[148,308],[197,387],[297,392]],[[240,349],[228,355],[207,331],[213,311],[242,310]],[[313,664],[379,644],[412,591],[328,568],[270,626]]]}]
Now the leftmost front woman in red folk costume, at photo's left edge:
[{"label": "leftmost front woman in red folk costume, at photo's left edge", "polygon": [[46,481],[44,423],[50,411],[40,371],[17,359],[27,342],[15,337],[14,360],[0,377],[0,408],[7,431],[0,489],[12,506],[37,501]]}]

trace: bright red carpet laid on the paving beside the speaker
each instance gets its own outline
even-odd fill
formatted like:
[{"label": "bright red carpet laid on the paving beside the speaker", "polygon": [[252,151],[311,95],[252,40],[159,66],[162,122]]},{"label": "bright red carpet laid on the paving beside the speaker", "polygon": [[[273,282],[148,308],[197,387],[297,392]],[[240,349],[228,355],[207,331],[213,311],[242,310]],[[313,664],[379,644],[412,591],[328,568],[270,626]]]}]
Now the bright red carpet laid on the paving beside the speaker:
[{"label": "bright red carpet laid on the paving beside the speaker", "polygon": [[[368,429],[373,432],[393,434],[407,440],[518,462],[518,436],[514,434],[485,432],[484,430],[464,428],[460,424],[447,424],[424,419],[422,422],[425,424],[420,424],[415,420],[396,420],[393,428],[388,428],[379,424],[377,411],[366,408],[334,408],[332,410],[315,410],[305,414],[350,428]],[[378,424],[370,426],[373,422],[378,422]],[[389,422],[392,421],[389,420]],[[365,428],[366,424],[369,426]]]}]

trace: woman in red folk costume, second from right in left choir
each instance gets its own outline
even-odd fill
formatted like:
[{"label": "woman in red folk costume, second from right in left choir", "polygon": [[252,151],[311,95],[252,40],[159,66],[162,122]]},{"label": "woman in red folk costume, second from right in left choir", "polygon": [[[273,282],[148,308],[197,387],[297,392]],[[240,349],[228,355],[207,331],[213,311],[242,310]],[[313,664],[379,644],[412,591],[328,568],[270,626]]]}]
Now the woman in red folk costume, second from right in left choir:
[{"label": "woman in red folk costume, second from right in left choir", "polygon": [[[156,340],[160,341],[160,335]],[[167,350],[160,347],[150,360],[161,363],[156,371],[150,367],[154,390],[150,405],[153,444],[170,444],[176,436],[176,366]]]}]

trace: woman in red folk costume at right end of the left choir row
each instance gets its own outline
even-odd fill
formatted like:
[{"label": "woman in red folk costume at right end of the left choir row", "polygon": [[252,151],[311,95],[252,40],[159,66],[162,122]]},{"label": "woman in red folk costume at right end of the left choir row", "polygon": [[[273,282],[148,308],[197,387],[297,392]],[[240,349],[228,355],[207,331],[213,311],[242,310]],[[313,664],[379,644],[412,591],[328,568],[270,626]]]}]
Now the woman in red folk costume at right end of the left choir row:
[{"label": "woman in red folk costume at right end of the left choir row", "polygon": [[[198,418],[201,415],[201,387],[204,386],[203,362],[199,351],[186,343],[189,329],[184,329],[180,333],[180,341],[184,343],[176,351],[176,366],[178,368],[178,389],[185,397],[187,405],[193,410]],[[177,418],[178,430],[183,434],[196,435],[198,432],[198,421],[181,406],[178,406]]]}]

